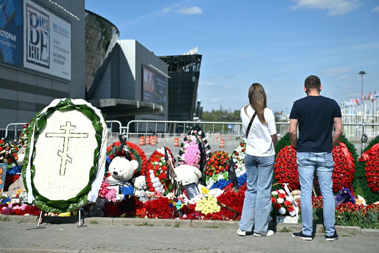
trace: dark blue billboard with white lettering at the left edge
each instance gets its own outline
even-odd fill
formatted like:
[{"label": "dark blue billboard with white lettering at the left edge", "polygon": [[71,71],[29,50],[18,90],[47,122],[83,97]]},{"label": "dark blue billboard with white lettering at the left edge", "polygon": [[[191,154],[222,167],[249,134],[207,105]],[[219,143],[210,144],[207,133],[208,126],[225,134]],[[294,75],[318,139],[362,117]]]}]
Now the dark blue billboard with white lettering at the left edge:
[{"label": "dark blue billboard with white lettering at the left edge", "polygon": [[0,0],[0,63],[22,67],[22,0]]}]

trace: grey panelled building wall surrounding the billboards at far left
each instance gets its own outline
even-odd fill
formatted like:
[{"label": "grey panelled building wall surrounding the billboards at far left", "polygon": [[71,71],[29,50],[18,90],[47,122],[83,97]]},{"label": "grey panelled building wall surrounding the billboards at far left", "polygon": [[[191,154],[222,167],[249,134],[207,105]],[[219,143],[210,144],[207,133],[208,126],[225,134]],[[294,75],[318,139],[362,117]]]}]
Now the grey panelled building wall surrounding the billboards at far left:
[{"label": "grey panelled building wall surrounding the billboards at far left", "polygon": [[[79,18],[69,20],[72,35],[72,81],[64,82],[42,74],[0,65],[0,128],[5,128],[10,123],[29,121],[55,98],[84,98],[84,0],[55,2]],[[49,9],[53,3],[47,0],[39,0],[38,3],[44,3],[43,7],[60,16],[54,8]]]}]

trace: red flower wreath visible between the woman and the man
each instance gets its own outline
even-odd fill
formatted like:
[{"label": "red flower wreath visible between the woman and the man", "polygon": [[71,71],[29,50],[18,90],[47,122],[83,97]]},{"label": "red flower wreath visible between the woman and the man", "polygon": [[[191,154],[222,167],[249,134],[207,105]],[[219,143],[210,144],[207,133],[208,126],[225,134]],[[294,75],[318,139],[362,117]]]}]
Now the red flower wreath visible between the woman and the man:
[{"label": "red flower wreath visible between the woman and the man", "polygon": [[296,150],[294,147],[282,148],[274,164],[275,179],[278,183],[288,183],[292,190],[300,188],[298,164],[296,162]]}]

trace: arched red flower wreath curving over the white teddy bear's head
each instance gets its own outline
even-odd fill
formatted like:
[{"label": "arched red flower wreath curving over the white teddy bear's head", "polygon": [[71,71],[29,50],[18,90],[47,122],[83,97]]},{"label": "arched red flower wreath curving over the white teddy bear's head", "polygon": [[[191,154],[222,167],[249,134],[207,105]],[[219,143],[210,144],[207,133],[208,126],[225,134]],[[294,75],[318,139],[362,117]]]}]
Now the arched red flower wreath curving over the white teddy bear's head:
[{"label": "arched red flower wreath curving over the white teddy bear's head", "polygon": [[[148,162],[145,152],[138,145],[134,143],[131,143],[129,141],[125,141],[125,143],[130,150],[129,154],[130,154],[131,159],[136,160],[140,165],[137,171],[135,172],[135,176],[145,175],[146,166]],[[115,155],[112,154],[112,149],[114,147],[117,149],[120,145],[121,145],[121,142],[117,141],[117,142],[114,142],[112,145],[108,146],[107,155],[109,156],[111,160],[113,160],[114,157],[117,157],[117,156],[125,156],[124,150],[117,152]]]}]

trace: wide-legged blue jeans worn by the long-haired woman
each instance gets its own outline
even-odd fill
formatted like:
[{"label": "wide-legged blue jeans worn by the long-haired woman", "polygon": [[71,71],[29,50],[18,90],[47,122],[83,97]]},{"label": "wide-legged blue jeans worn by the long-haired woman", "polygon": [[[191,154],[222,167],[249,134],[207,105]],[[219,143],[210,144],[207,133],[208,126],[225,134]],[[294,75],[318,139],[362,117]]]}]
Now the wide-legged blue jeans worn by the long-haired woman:
[{"label": "wide-legged blue jeans worn by the long-haired woman", "polygon": [[247,190],[239,229],[265,234],[271,210],[271,186],[275,156],[258,157],[245,154]]}]

